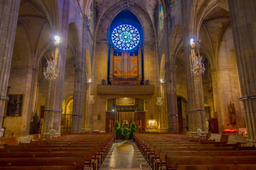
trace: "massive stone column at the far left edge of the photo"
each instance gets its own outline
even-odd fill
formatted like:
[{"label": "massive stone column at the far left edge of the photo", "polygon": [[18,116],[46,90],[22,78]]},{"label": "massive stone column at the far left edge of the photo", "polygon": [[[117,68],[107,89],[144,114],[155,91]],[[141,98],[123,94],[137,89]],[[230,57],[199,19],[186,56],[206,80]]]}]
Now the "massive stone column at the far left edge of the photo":
[{"label": "massive stone column at the far left edge of the photo", "polygon": [[0,125],[6,101],[20,0],[0,0]]}]

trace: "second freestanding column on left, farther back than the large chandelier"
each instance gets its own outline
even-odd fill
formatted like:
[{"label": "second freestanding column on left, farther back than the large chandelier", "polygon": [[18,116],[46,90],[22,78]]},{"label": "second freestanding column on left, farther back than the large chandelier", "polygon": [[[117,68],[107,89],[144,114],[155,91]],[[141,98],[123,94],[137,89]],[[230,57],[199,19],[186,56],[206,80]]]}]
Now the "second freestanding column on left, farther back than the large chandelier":
[{"label": "second freestanding column on left, farther back than the large chandelier", "polygon": [[82,44],[80,47],[80,54],[77,59],[78,67],[75,69],[75,87],[78,80],[81,82],[81,92],[76,93],[74,91],[74,100],[73,100],[73,112],[72,112],[72,125],[71,125],[71,133],[80,133],[82,130],[82,121],[83,121],[83,109],[84,109],[84,84],[86,82],[85,79],[85,64],[86,64],[86,33],[87,33],[87,22],[88,17],[84,16],[83,21],[83,34],[82,34]]}]

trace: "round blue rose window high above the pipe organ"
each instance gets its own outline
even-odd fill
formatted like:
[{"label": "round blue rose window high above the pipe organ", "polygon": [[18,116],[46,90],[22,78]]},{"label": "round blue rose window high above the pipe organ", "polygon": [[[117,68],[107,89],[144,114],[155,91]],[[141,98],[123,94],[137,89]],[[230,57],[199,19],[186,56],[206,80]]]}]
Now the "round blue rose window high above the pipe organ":
[{"label": "round blue rose window high above the pipe organ", "polygon": [[113,30],[111,39],[116,48],[131,50],[140,42],[140,33],[134,26],[120,25]]}]

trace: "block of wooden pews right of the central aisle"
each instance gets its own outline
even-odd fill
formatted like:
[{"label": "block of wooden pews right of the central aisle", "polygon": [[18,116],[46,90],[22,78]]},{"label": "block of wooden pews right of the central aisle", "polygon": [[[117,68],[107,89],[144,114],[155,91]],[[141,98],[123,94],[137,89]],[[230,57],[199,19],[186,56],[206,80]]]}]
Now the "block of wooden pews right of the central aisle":
[{"label": "block of wooden pews right of the central aisle", "polygon": [[134,142],[152,170],[256,170],[256,149],[206,137],[135,133]]}]

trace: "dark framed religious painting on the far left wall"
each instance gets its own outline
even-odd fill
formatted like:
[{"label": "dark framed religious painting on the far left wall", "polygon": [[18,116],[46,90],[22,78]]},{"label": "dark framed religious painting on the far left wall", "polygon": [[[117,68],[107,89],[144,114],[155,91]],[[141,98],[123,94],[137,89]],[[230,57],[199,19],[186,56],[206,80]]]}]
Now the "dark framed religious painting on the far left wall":
[{"label": "dark framed religious painting on the far left wall", "polygon": [[6,116],[22,116],[24,94],[9,94]]}]

